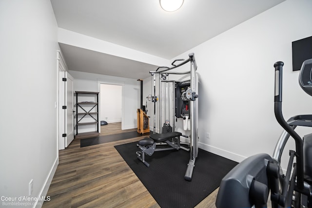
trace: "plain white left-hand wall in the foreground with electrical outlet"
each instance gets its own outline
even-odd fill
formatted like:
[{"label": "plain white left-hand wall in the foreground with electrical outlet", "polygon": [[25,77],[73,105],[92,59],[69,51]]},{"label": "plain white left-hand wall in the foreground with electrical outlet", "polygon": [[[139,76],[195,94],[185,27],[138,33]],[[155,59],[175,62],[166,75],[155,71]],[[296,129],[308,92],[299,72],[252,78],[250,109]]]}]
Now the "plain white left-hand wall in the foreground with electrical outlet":
[{"label": "plain white left-hand wall in the foreground with electrical outlet", "polygon": [[51,2],[1,0],[0,31],[0,196],[27,197],[33,179],[30,197],[39,197],[58,164],[58,26]]}]

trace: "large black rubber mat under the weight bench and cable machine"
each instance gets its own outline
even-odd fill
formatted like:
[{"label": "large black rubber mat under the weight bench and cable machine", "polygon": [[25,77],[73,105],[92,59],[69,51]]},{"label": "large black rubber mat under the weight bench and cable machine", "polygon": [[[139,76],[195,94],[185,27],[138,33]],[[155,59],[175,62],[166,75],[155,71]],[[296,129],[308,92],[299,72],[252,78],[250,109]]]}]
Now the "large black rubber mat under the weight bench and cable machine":
[{"label": "large black rubber mat under the weight bench and cable machine", "polygon": [[145,156],[150,164],[147,168],[137,159],[137,142],[115,148],[161,208],[195,207],[218,188],[222,178],[237,165],[237,162],[199,149],[192,181],[186,181],[188,151],[156,151],[152,156]]}]

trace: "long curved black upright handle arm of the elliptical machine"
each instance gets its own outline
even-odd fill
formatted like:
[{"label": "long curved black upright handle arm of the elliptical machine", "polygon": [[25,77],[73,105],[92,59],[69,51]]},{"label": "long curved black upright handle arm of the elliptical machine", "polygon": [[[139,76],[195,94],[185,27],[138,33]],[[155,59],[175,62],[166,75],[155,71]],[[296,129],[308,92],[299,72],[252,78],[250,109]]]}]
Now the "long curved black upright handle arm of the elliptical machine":
[{"label": "long curved black upright handle arm of the elliptical machine", "polygon": [[297,162],[297,188],[303,189],[303,141],[301,137],[285,121],[282,114],[282,71],[284,63],[278,61],[274,63],[275,68],[275,92],[274,92],[274,113],[277,122],[287,131],[296,144],[296,162]]}]

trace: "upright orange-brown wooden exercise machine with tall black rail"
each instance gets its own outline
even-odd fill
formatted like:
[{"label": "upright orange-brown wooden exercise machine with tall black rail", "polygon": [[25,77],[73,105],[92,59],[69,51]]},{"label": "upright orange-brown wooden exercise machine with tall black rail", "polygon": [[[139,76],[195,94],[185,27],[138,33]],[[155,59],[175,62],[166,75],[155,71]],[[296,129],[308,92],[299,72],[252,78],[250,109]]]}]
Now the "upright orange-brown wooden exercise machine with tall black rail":
[{"label": "upright orange-brown wooden exercise machine with tall black rail", "polygon": [[137,109],[137,132],[140,134],[150,132],[149,117],[147,116],[146,106],[143,105],[143,80],[140,82],[140,108]]}]

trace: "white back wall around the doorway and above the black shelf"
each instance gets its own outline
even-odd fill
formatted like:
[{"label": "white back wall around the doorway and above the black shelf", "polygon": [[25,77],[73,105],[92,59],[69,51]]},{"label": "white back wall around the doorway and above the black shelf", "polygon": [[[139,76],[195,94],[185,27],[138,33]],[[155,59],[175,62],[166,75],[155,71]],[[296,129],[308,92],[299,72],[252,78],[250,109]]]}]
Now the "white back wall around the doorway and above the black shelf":
[{"label": "white back wall around the doorway and above the black shelf", "polygon": [[[69,74],[74,77],[74,91],[99,92],[100,84],[121,85],[121,129],[125,130],[137,128],[139,84],[136,79],[98,75],[77,71],[69,71]],[[99,99],[102,96],[101,94],[102,92],[99,94]],[[115,98],[111,97],[111,99],[114,100]]]}]

